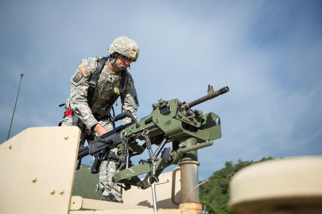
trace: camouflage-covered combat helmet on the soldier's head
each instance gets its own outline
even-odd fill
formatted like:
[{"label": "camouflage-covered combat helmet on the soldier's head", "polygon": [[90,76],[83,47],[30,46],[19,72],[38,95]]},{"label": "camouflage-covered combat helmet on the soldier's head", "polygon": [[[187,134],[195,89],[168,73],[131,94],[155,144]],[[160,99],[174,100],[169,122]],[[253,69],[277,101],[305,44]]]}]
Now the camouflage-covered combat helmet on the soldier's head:
[{"label": "camouflage-covered combat helmet on the soldier's head", "polygon": [[139,46],[134,40],[127,36],[116,38],[107,51],[110,54],[117,52],[127,56],[129,59],[133,59],[134,62],[137,61],[137,57],[139,56]]}]

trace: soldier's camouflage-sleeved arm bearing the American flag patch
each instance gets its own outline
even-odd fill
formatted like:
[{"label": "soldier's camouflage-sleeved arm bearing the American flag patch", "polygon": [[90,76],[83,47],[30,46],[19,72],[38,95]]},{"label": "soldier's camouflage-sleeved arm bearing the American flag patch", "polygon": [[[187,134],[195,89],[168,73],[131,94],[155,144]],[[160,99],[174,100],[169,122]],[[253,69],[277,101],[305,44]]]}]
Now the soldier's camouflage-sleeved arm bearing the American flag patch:
[{"label": "soldier's camouflage-sleeved arm bearing the American flag patch", "polygon": [[86,58],[82,60],[81,64],[75,71],[75,74],[70,79],[70,107],[89,130],[98,123],[87,103],[88,82],[90,80],[90,76],[94,72],[96,64],[96,58]]}]

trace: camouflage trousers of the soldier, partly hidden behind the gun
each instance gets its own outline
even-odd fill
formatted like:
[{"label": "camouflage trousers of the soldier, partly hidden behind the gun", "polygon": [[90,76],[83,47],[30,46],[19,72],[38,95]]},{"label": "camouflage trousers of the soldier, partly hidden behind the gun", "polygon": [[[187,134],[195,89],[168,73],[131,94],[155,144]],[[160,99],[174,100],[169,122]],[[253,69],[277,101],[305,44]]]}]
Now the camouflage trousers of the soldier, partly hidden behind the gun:
[{"label": "camouflage trousers of the soldier, partly hidden behind the gun", "polygon": [[[100,120],[99,123],[107,130],[111,131],[113,130],[113,124],[110,120]],[[65,117],[62,120],[62,126],[72,126],[72,119],[71,115]],[[78,127],[82,130],[82,123],[79,121]],[[97,137],[96,132],[91,133],[90,136],[87,138],[88,144],[92,142],[92,140]],[[83,146],[85,142],[85,138],[83,134],[81,134],[80,139],[80,146]],[[110,151],[110,155],[116,156],[117,148],[114,148]],[[114,160],[108,160],[108,161],[102,161],[100,167],[99,167],[99,186],[102,189],[102,197],[101,200],[104,201],[114,201],[114,202],[121,202],[122,201],[122,193],[121,193],[121,187],[114,184],[112,182],[112,177],[114,174],[118,172],[116,169],[116,161]]]}]

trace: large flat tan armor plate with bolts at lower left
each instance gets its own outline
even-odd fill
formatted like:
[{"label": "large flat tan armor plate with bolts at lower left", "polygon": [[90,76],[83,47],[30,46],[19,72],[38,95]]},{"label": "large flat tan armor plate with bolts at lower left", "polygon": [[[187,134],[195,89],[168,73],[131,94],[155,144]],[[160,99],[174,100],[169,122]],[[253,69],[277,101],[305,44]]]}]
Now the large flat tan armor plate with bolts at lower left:
[{"label": "large flat tan armor plate with bolts at lower left", "polygon": [[1,213],[68,213],[80,134],[29,128],[1,144]]}]

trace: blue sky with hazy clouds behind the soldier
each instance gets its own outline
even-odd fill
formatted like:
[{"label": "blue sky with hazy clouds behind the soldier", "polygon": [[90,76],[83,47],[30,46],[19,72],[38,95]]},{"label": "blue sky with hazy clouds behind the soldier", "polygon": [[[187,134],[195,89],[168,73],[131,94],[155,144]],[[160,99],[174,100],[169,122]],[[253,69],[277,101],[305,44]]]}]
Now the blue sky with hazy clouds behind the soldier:
[{"label": "blue sky with hazy clouds behind the soldier", "polygon": [[229,86],[196,106],[218,114],[223,133],[198,151],[201,180],[225,161],[322,155],[321,1],[13,0],[2,1],[0,12],[0,142],[20,73],[10,137],[56,126],[81,59],[107,55],[124,35],[140,46],[130,70],[139,119],[160,98],[190,102],[208,84]]}]

